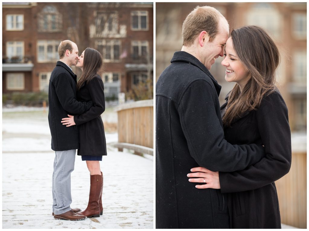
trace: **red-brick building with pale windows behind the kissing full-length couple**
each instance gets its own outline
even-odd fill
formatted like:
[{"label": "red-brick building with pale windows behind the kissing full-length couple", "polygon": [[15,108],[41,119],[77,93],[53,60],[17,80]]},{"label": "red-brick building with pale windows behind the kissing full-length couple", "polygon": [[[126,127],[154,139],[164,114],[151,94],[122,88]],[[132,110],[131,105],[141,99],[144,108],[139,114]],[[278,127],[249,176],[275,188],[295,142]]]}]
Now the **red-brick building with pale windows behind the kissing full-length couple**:
[{"label": "red-brick building with pale windows behind the kissing full-length couple", "polygon": [[[153,79],[153,4],[2,3],[2,93],[48,91],[58,45],[72,40],[103,55],[106,99]],[[81,70],[72,67],[74,73]],[[152,94],[151,94],[152,98]]]}]

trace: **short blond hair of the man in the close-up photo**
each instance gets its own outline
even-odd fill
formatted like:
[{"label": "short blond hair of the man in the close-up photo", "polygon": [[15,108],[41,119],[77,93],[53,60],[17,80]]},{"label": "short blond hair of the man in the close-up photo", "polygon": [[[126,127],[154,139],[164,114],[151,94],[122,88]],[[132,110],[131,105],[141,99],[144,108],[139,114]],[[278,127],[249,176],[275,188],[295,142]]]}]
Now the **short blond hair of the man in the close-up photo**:
[{"label": "short blond hair of the man in the close-up photo", "polygon": [[183,46],[193,45],[196,37],[206,31],[209,41],[212,42],[218,34],[220,18],[224,16],[211,6],[197,6],[188,14],[182,24]]}]

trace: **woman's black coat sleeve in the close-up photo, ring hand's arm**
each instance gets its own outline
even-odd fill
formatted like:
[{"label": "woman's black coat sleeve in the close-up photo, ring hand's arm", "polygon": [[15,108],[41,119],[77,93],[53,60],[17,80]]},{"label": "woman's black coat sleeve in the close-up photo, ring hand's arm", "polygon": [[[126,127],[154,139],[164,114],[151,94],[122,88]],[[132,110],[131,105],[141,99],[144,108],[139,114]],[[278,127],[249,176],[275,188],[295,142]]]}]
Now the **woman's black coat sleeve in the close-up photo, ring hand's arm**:
[{"label": "woman's black coat sleeve in the close-up photo, ring hand's arm", "polygon": [[288,110],[279,92],[262,100],[256,111],[256,120],[266,157],[242,171],[219,172],[222,193],[263,187],[290,170],[292,151]]}]

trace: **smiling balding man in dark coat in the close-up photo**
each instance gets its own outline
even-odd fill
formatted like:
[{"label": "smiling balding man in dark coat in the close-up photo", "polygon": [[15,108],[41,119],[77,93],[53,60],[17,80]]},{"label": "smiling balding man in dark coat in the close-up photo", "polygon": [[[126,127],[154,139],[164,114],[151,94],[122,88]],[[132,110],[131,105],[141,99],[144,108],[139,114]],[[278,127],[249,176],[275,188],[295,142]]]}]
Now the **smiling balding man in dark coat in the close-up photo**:
[{"label": "smiling balding man in dark coat in the close-up photo", "polygon": [[264,155],[262,146],[224,139],[218,95],[209,69],[223,56],[226,19],[213,7],[196,7],[183,23],[183,47],[156,84],[156,228],[229,228],[226,195],[197,189],[192,167],[242,170]]}]

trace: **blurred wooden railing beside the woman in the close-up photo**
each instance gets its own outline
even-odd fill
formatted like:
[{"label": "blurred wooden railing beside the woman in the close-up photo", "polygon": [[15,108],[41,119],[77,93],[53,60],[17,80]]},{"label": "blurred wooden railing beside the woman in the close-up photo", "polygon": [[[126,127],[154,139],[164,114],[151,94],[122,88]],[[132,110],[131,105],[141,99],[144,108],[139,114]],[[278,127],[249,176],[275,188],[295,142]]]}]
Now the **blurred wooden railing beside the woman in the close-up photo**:
[{"label": "blurred wooden railing beside the woman in the close-up photo", "polygon": [[292,152],[290,172],[276,182],[281,223],[307,228],[307,152]]}]

